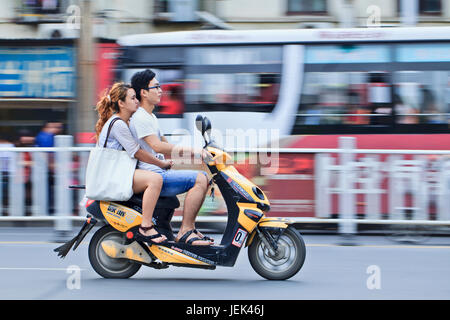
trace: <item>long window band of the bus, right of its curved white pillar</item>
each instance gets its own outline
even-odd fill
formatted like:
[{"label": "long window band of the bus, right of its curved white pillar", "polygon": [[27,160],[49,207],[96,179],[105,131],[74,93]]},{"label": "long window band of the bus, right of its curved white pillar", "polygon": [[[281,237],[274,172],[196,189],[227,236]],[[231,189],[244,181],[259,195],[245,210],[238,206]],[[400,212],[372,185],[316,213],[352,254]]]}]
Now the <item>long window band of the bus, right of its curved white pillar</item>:
[{"label": "long window band of the bus, right of its curved white pillar", "polygon": [[293,134],[444,133],[450,43],[310,45]]}]

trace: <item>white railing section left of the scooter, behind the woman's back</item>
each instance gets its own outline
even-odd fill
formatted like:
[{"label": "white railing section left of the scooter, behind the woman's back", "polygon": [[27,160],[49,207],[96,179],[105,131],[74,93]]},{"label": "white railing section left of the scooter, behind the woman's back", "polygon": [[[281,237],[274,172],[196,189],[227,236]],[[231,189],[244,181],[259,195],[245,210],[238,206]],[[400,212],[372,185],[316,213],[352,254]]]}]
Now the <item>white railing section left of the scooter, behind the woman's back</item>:
[{"label": "white railing section left of the scooter, behind the woman's back", "polygon": [[84,181],[91,148],[72,141],[56,136],[55,148],[0,148],[0,221],[54,221],[56,230],[69,231],[72,220],[84,218],[76,205],[84,192],[68,186]]}]

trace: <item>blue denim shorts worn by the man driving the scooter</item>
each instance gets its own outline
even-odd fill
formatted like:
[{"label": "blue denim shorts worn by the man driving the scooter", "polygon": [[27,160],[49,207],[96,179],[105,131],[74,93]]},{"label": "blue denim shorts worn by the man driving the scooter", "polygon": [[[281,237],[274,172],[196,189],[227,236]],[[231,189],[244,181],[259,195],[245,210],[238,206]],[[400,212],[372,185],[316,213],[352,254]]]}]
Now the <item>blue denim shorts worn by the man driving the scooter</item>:
[{"label": "blue denim shorts worn by the man driving the scooter", "polygon": [[194,170],[158,170],[156,172],[163,177],[160,194],[162,197],[176,196],[189,191],[194,186],[200,172],[208,177],[206,172]]}]

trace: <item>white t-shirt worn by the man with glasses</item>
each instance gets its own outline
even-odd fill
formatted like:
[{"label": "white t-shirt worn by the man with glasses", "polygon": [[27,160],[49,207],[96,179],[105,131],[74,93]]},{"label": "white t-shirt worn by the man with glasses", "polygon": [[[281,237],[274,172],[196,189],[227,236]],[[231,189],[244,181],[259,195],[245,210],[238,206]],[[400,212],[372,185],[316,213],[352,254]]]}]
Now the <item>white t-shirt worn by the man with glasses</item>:
[{"label": "white t-shirt worn by the man with glasses", "polygon": [[[153,113],[148,113],[144,108],[139,107],[130,118],[130,130],[133,137],[138,140],[142,149],[158,159],[164,160],[163,154],[155,152],[155,150],[144,141],[144,138],[150,135],[156,135],[161,140],[161,136],[163,135],[159,127],[158,119]],[[142,161],[139,161],[138,168],[150,171],[161,170],[160,167],[154,164]]]}]

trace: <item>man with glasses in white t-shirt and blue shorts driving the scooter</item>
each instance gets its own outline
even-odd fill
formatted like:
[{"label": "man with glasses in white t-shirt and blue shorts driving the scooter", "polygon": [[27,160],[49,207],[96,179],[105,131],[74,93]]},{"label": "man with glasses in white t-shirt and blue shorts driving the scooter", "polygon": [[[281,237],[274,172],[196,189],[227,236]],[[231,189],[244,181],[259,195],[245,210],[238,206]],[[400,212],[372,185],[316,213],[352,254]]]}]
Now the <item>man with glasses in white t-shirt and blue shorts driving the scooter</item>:
[{"label": "man with glasses in white t-shirt and blue shorts driving the scooter", "polygon": [[[172,154],[202,157],[207,156],[204,150],[195,151],[170,144],[163,136],[158,119],[153,111],[160,102],[162,89],[153,71],[147,69],[137,72],[131,79],[131,86],[140,102],[139,109],[130,119],[130,129],[144,150],[163,158]],[[195,219],[208,191],[206,172],[193,170],[164,170],[155,165],[139,162],[139,169],[161,174],[163,186],[161,196],[170,197],[187,192],[183,207],[183,221],[175,241],[191,245],[211,245],[213,240],[204,236],[195,228]],[[145,230],[144,230],[145,231]]]}]

